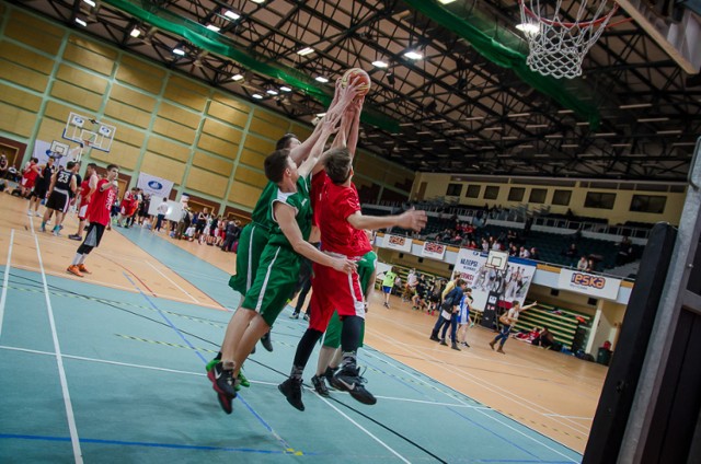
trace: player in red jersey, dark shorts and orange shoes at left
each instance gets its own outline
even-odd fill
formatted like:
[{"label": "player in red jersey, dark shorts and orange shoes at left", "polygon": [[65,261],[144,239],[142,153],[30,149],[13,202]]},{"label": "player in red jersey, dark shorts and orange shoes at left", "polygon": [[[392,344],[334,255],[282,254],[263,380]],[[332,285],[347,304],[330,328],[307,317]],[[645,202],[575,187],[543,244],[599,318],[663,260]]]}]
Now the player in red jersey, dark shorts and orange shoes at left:
[{"label": "player in red jersey, dark shorts and orange shoes at left", "polygon": [[92,248],[100,245],[102,234],[110,223],[110,211],[112,210],[112,205],[114,205],[114,200],[117,197],[117,189],[119,188],[117,175],[119,175],[119,167],[116,164],[110,164],[107,166],[107,177],[97,182],[95,192],[92,194],[90,206],[88,207],[88,220],[90,221],[88,235],[85,235],[85,240],[78,247],[73,262],[68,266],[68,269],[66,269],[69,274],[78,277],[83,277],[83,272],[90,274],[84,265],[85,258],[90,252],[92,252]]}]

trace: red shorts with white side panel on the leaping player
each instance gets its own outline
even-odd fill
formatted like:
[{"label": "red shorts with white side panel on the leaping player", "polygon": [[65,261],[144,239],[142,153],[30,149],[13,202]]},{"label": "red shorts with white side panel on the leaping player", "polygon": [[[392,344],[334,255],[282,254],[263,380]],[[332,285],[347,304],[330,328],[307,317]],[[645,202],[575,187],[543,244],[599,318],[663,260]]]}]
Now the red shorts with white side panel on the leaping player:
[{"label": "red shorts with white side panel on the leaping player", "polygon": [[311,321],[309,328],[326,332],[333,311],[338,316],[360,316],[365,318],[365,304],[358,274],[347,275],[317,263],[312,265]]}]

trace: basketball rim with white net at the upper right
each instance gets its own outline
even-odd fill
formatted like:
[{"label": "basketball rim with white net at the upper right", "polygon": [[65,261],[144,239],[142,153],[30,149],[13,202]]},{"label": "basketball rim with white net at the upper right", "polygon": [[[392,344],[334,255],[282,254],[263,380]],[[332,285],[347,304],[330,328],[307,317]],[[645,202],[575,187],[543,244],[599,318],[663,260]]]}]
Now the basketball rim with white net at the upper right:
[{"label": "basketball rim with white net at the upper right", "polygon": [[563,0],[554,4],[519,0],[519,28],[528,40],[526,62],[532,71],[555,79],[582,76],[582,61],[618,11],[618,3],[607,10],[608,0],[581,1],[578,7],[571,3],[565,11],[561,9]]}]

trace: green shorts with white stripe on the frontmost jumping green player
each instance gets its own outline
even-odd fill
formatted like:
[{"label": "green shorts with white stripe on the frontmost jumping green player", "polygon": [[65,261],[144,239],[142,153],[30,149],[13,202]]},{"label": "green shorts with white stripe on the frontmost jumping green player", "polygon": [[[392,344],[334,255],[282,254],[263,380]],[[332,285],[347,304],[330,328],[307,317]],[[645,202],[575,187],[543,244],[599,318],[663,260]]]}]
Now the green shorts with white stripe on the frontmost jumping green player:
[{"label": "green shorts with white stripe on the frontmost jumping green player", "polygon": [[263,321],[273,326],[287,305],[287,299],[295,291],[300,265],[301,257],[292,248],[265,246],[255,279],[241,306],[261,314]]}]

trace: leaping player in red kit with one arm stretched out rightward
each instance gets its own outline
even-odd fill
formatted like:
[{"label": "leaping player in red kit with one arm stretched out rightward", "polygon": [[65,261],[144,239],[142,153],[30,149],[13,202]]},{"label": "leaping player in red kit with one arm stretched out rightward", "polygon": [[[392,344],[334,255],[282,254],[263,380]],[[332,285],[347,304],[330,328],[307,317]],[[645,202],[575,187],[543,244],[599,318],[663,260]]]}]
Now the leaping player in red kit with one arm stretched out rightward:
[{"label": "leaping player in red kit with one arm stretched out rightward", "polygon": [[[312,178],[312,206],[321,232],[321,251],[334,257],[352,260],[358,260],[372,250],[365,236],[365,229],[397,225],[420,231],[426,225],[425,211],[411,210],[399,216],[386,217],[364,216],[360,212],[358,192],[352,182],[352,163],[361,104],[363,101],[359,100],[344,115],[341,130],[334,140],[334,146],[343,147],[346,144],[347,135],[348,147],[330,150],[324,161],[324,170]],[[290,376],[278,385],[278,388],[289,404],[304,410],[301,401],[302,372],[314,345],[326,330],[335,309],[343,321],[343,361],[341,370],[333,378],[333,385],[349,392],[360,403],[375,404],[377,401],[365,388],[365,380],[356,366],[356,353],[365,324],[365,302],[358,274],[354,271],[348,276],[315,264],[312,267],[311,321],[297,346]]]}]

